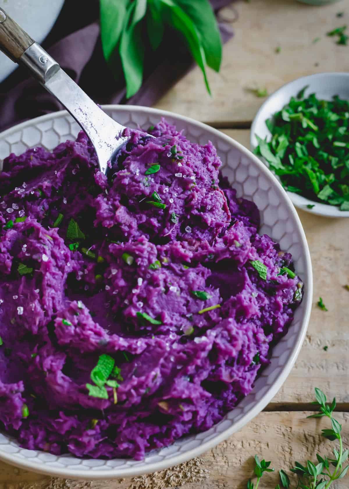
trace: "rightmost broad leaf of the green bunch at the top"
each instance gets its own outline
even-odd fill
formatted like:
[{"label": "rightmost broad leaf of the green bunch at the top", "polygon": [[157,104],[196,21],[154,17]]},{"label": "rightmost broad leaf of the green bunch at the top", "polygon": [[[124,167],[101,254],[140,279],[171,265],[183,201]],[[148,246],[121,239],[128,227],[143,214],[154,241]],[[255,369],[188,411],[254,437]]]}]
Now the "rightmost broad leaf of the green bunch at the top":
[{"label": "rightmost broad leaf of the green bunch at the top", "polygon": [[208,0],[176,0],[194,22],[207,66],[219,71],[222,60],[222,42],[215,14]]}]

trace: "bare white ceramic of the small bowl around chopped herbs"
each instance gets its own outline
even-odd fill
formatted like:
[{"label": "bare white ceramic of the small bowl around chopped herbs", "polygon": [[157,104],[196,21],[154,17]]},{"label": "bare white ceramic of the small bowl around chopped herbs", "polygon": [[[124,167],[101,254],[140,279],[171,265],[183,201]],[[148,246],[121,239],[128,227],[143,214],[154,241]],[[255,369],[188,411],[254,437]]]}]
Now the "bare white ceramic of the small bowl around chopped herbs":
[{"label": "bare white ceramic of the small bowl around chopped herbs", "polygon": [[[349,73],[318,73],[286,83],[286,85],[270,95],[257,112],[251,126],[250,142],[252,150],[258,145],[256,134],[262,139],[265,137],[267,140],[271,139],[265,120],[269,119],[275,112],[280,111],[289,102],[290,98],[292,96],[295,97],[306,85],[309,85],[309,87],[305,90],[305,96],[310,93],[316,93],[318,98],[331,100],[333,95],[339,95],[340,98],[349,100]],[[261,158],[261,160],[267,164],[264,158]],[[340,211],[339,207],[335,205],[309,200],[294,192],[287,192],[287,194],[296,207],[306,212],[326,217],[349,217],[349,211]],[[308,209],[306,207],[307,204],[315,205],[312,209]]]}]

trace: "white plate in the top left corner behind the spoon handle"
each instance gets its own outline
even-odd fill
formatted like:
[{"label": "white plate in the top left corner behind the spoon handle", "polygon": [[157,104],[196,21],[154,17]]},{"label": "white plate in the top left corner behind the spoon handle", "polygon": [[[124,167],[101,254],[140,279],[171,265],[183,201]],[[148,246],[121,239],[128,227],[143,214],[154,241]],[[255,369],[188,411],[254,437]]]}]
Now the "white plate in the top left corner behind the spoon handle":
[{"label": "white plate in the top left corner behind the spoon handle", "polygon": [[[0,0],[0,7],[37,43],[42,43],[52,29],[63,4],[64,0]],[[0,82],[17,66],[0,52]]]}]

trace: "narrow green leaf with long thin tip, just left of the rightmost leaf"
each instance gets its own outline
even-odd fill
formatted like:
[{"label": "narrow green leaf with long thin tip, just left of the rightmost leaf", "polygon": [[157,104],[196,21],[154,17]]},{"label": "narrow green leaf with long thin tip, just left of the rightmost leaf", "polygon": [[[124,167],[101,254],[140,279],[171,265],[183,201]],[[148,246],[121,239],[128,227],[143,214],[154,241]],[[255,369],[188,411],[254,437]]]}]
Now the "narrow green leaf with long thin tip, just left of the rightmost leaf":
[{"label": "narrow green leaf with long thin tip, just left of the rightmost leaf", "polygon": [[189,46],[197,65],[204,76],[207,91],[211,94],[206,74],[206,55],[195,23],[173,0],[160,0],[167,7],[167,20],[178,31],[180,31]]}]

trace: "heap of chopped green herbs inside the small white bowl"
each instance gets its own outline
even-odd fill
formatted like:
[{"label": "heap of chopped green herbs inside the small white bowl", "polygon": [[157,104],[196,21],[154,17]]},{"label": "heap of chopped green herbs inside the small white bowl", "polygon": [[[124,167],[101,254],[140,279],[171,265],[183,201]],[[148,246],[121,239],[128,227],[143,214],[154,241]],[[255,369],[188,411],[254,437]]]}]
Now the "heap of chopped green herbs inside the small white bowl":
[{"label": "heap of chopped green herbs inside the small white bowl", "polygon": [[349,209],[349,101],[304,98],[305,89],[266,121],[271,140],[256,135],[255,153],[286,190]]}]

